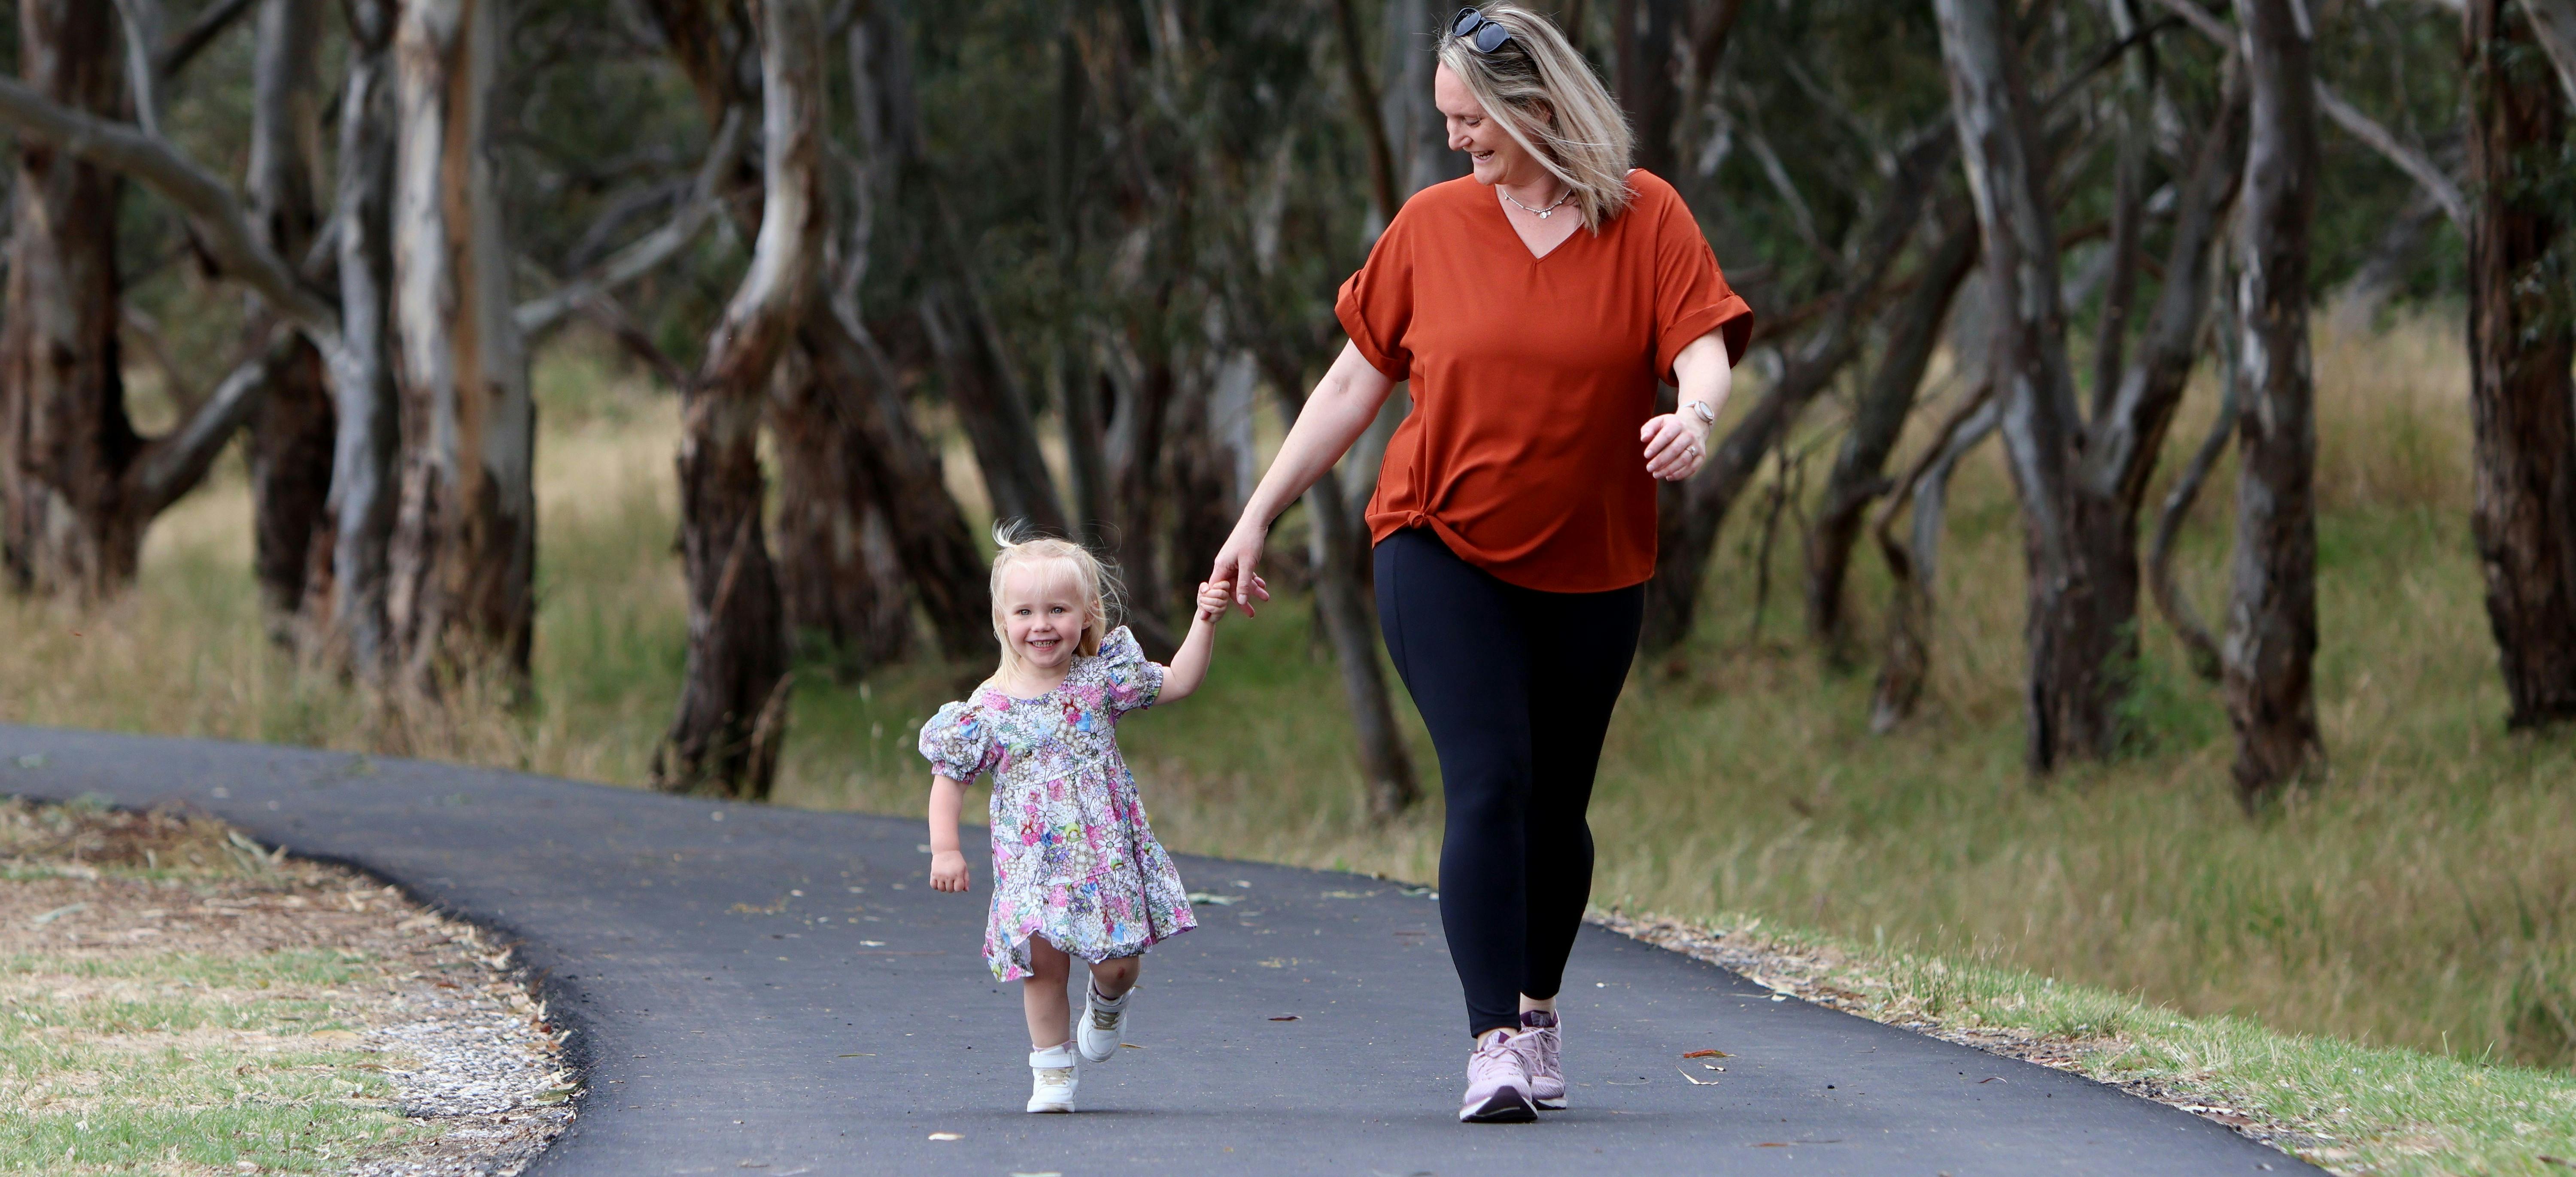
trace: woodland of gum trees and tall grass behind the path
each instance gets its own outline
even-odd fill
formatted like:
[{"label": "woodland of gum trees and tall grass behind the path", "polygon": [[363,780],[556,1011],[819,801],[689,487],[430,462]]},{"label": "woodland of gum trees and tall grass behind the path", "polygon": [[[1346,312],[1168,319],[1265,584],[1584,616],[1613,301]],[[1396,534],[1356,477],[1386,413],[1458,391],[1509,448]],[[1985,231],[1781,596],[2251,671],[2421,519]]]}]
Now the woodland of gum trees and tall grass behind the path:
[{"label": "woodland of gum trees and tall grass behind the path", "polygon": [[[984,525],[1167,644],[1461,173],[1419,0],[5,8],[13,721],[917,811]],[[2576,1064],[2566,3],[1551,10],[1759,314],[1597,899]],[[1399,412],[1177,847],[1432,876]]]}]

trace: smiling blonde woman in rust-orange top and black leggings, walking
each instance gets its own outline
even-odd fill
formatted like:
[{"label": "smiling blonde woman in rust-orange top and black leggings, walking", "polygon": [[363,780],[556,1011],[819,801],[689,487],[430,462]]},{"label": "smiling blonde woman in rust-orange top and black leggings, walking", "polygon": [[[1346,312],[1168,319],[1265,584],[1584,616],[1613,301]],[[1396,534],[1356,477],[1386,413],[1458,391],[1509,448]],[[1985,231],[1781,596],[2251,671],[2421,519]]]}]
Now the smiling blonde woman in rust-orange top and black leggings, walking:
[{"label": "smiling blonde woman in rust-orange top and black leggings, walking", "polygon": [[[1618,108],[1546,18],[1458,13],[1432,98],[1473,175],[1406,201],[1342,286],[1350,343],[1211,579],[1249,613],[1270,520],[1412,381],[1368,505],[1378,621],[1440,749],[1440,925],[1476,1038],[1458,1118],[1528,1120],[1564,1107],[1556,992],[1654,479],[1700,469],[1752,312],[1672,185],[1628,167]],[[1659,379],[1677,412],[1656,415]]]}]

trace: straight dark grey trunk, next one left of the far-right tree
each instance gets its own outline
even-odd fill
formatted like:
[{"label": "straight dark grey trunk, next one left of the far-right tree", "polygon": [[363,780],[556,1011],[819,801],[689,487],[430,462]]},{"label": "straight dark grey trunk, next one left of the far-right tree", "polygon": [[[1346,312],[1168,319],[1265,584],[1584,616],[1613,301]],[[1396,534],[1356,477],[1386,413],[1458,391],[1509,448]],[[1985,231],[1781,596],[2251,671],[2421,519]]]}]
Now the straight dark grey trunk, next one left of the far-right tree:
[{"label": "straight dark grey trunk, next one left of the far-right tree", "polygon": [[[2246,139],[2236,556],[2223,646],[2236,788],[2254,798],[2324,755],[2316,734],[2313,39],[2295,0],[2236,0],[2254,108]],[[2561,376],[2566,363],[2561,363]],[[2563,407],[2563,402],[2561,402]]]}]

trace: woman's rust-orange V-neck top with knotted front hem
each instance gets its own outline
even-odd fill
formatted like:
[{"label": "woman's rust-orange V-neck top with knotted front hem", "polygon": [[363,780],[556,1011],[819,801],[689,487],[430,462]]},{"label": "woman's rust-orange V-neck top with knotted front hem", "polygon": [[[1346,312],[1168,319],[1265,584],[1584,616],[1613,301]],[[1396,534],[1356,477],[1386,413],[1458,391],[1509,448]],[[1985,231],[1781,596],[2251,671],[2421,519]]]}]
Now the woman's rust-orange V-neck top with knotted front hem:
[{"label": "woman's rust-orange V-neck top with knotted front hem", "polygon": [[1744,353],[1752,306],[1726,286],[1690,206],[1654,173],[1600,234],[1530,258],[1473,178],[1414,193],[1342,283],[1360,355],[1412,381],[1386,446],[1370,541],[1432,528],[1461,559],[1540,592],[1605,592],[1654,574],[1654,476],[1638,430],[1672,358],[1723,330]]}]

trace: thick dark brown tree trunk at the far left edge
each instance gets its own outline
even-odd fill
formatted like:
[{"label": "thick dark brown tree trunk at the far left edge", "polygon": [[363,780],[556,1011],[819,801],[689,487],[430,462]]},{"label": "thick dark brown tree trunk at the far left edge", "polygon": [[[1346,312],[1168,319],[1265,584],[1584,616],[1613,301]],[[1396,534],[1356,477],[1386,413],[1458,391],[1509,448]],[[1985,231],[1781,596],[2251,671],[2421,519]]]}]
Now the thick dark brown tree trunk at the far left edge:
[{"label": "thick dark brown tree trunk at the far left edge", "polygon": [[[116,8],[21,0],[18,75],[41,98],[113,118]],[[118,373],[116,173],[21,139],[0,325],[0,559],[21,592],[95,600],[134,579],[142,448]]]}]

